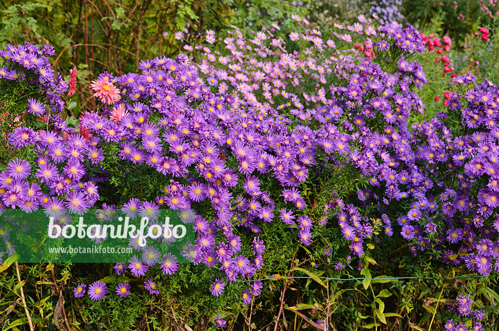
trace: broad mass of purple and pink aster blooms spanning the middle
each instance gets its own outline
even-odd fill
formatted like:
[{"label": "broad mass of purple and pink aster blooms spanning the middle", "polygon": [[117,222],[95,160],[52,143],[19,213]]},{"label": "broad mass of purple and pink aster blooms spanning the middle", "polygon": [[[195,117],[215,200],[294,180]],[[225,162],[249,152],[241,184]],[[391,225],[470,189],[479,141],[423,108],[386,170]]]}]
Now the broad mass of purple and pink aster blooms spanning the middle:
[{"label": "broad mass of purple and pink aster blooms spanning the middle", "polygon": [[[410,25],[374,28],[364,17],[359,20],[347,29],[364,41],[364,53],[352,45],[350,34],[334,32],[344,45],[337,48],[333,40],[324,42],[320,31],[296,29],[284,40],[273,26],[247,38],[236,29],[223,40],[223,52],[195,45],[191,48],[206,57],[199,63],[180,54],[141,61],[139,74],[101,74],[94,86],[108,92],[114,86],[115,98],[101,98],[106,104],[84,113],[76,130],[18,128],[11,135],[11,144],[33,149],[38,159],[36,164],[13,159],[0,173],[1,207],[43,208],[59,221],[91,207],[101,207],[96,215],[106,220],[121,208],[153,223],[160,208],[176,209],[197,234],[182,255],[218,269],[209,285],[215,296],[262,269],[265,243],[259,234],[263,224],[276,221],[296,227],[301,243],[309,245],[315,230],[337,218],[358,257],[364,241],[382,228],[387,236],[400,233],[409,240],[415,254],[436,251],[446,263],[459,265],[463,259],[470,270],[490,273],[499,257],[493,242],[499,219],[496,230],[490,225],[499,205],[498,87],[487,82],[451,95],[449,110],[462,112],[466,134],[453,135],[443,116],[408,126],[411,114],[425,107],[416,92],[427,82],[425,72],[411,60],[426,51],[424,41]],[[216,40],[212,31],[207,36],[209,44]],[[288,53],[287,42],[304,46]],[[393,68],[388,71],[378,62],[392,47],[401,55],[388,63]],[[318,56],[325,60],[319,63]],[[470,84],[474,77],[461,81]],[[304,91],[310,82],[313,88]],[[29,107],[36,113],[43,105]],[[104,167],[110,159],[119,163],[118,170]],[[351,165],[361,189],[354,199],[327,199],[312,217],[305,212],[303,186],[322,165]],[[147,199],[129,196],[123,206],[97,205],[99,183],[112,171],[147,173],[167,184]],[[410,207],[401,209],[400,202]],[[200,206],[210,212],[200,214]],[[379,220],[368,218],[367,206],[377,206]],[[247,237],[250,250],[242,248]],[[174,274],[178,259],[161,256],[154,243],[141,247],[131,239],[140,253],[117,264],[116,272],[146,276],[159,268]],[[144,286],[158,293],[151,279]],[[125,284],[118,287],[118,295],[129,293]],[[243,302],[260,290],[261,283],[252,283],[240,294]],[[92,298],[104,292],[99,284],[89,288]]]}]

